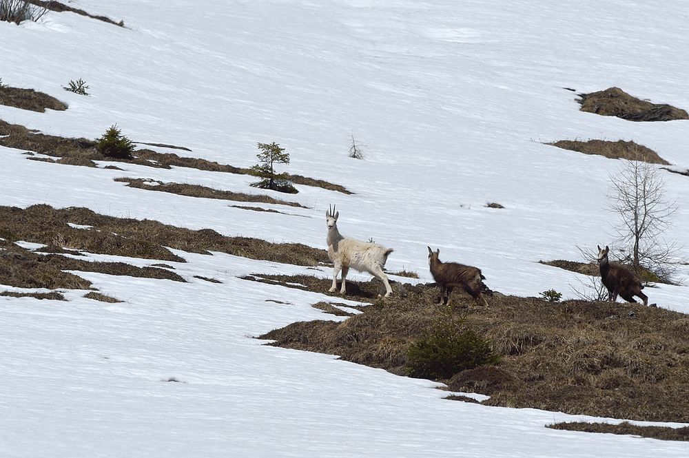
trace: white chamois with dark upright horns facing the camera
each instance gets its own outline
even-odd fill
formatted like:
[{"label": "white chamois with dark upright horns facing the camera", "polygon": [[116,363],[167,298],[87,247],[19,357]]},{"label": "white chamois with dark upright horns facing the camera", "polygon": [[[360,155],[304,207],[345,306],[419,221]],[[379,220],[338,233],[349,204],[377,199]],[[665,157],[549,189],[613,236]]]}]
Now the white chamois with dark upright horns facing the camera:
[{"label": "white chamois with dark upright horns facing the camera", "polygon": [[328,256],[335,264],[333,268],[333,286],[328,290],[334,293],[338,289],[338,274],[342,271],[342,287],[340,294],[345,294],[345,278],[349,268],[360,272],[368,272],[382,280],[385,284],[385,297],[392,293],[392,288],[383,272],[387,257],[393,252],[391,248],[382,247],[376,243],[360,242],[349,237],[342,237],[338,231],[338,217],[340,212],[333,213],[335,207],[325,213],[328,224]]}]

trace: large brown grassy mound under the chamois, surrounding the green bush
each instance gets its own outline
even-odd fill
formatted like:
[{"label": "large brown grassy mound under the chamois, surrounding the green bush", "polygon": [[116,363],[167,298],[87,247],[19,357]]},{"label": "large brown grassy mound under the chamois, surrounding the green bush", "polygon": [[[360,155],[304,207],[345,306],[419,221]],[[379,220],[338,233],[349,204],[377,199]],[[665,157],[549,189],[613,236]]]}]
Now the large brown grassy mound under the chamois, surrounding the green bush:
[{"label": "large brown grassy mound under the chamois, surrounding the green bush", "polygon": [[[268,280],[320,293],[330,286],[327,279],[302,276]],[[347,297],[367,300],[379,289],[378,282],[351,282]],[[378,300],[343,322],[298,322],[261,338],[407,375],[407,348],[447,311],[436,305],[438,287],[404,289],[406,297]],[[451,313],[492,342],[502,362],[441,380],[449,390],[490,395],[483,404],[493,406],[689,421],[683,394],[689,384],[686,315],[639,304],[502,295],[489,298],[488,307],[474,306],[468,295],[457,295],[453,303]]]}]

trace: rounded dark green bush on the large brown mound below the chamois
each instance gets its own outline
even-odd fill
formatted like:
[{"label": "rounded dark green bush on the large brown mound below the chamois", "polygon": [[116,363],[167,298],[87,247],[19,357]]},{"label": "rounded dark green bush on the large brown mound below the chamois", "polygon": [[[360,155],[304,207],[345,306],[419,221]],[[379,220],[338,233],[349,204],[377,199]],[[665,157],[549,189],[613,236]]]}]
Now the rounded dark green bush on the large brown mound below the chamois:
[{"label": "rounded dark green bush on the large brown mound below the chamois", "polygon": [[460,371],[497,364],[491,342],[466,326],[464,320],[444,315],[429,326],[407,350],[409,375],[448,379]]}]

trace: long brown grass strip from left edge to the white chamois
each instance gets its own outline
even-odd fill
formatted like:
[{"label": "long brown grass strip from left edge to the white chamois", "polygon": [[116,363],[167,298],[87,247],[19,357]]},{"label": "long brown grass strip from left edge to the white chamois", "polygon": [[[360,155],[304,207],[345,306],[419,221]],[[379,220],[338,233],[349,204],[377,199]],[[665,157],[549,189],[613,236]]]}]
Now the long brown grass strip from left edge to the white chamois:
[{"label": "long brown grass strip from left edge to the white chamois", "polygon": [[[68,223],[89,226],[91,229],[76,229]],[[90,253],[173,262],[185,260],[166,247],[203,254],[221,251],[245,258],[300,266],[329,262],[327,251],[304,244],[226,237],[212,229],[192,231],[153,220],[103,216],[90,209],[76,207],[0,207],[0,238],[50,244],[62,249]]]}]

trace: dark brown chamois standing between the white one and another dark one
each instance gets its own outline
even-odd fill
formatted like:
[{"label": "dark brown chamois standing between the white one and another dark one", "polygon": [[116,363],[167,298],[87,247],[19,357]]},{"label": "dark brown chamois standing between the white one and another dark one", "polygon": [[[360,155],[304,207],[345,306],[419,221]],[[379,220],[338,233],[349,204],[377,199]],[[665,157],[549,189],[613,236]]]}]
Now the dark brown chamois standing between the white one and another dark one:
[{"label": "dark brown chamois standing between the white one and another dark one", "polygon": [[440,287],[440,305],[450,304],[450,295],[455,287],[464,289],[476,301],[482,301],[485,306],[488,306],[486,298],[481,293],[482,281],[485,277],[481,274],[481,270],[472,266],[465,266],[464,264],[457,264],[457,262],[441,262],[438,259],[440,249],[433,251],[429,249],[429,264],[431,266],[431,275],[433,280],[438,283]]}]

